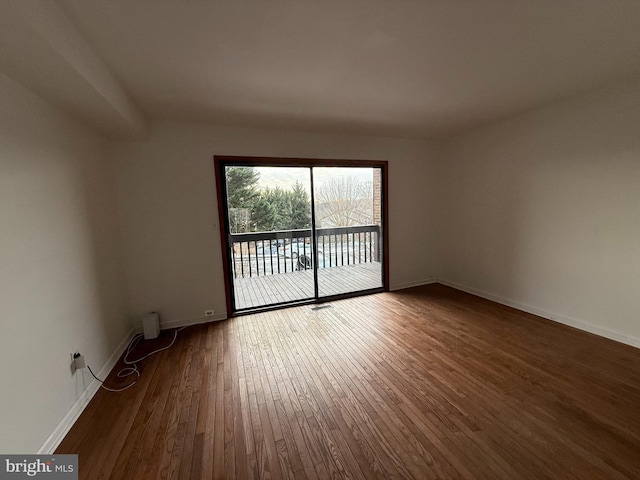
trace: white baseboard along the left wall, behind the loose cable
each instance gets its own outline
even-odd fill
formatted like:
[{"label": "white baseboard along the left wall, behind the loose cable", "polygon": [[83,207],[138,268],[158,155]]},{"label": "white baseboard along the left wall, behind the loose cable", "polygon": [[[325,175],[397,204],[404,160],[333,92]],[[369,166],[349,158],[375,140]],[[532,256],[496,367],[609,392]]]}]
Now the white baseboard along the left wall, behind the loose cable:
[{"label": "white baseboard along the left wall, behind the loose cable", "polygon": [[[118,345],[116,350],[111,354],[104,366],[100,369],[97,374],[98,378],[105,378],[107,377],[107,375],[109,375],[111,370],[113,370],[113,367],[115,367],[116,363],[118,363],[118,360],[124,353],[134,335],[134,329],[131,329],[122,340],[122,342],[120,342],[120,345]],[[89,405],[89,402],[98,392],[98,390],[100,390],[100,383],[97,380],[93,379],[93,377],[91,377],[91,382],[89,383],[87,388],[84,389],[73,406],[69,409],[62,420],[60,420],[60,423],[58,423],[53,432],[51,432],[49,437],[38,449],[38,455],[53,454],[53,452],[56,450],[56,448],[58,448],[58,445],[60,445],[67,433],[69,433],[69,430],[71,430],[73,424],[76,423],[76,420],[78,420],[80,414],[82,414],[84,409],[87,408],[87,405]]]}]

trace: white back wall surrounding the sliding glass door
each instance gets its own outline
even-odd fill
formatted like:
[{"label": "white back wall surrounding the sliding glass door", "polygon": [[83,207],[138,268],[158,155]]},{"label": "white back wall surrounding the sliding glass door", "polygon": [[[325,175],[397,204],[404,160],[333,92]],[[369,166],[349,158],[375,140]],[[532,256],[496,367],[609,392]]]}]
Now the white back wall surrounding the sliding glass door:
[{"label": "white back wall surrounding the sliding glass door", "polygon": [[112,151],[134,321],[225,315],[214,155],[389,161],[391,287],[435,276],[434,149],[426,142],[160,123]]}]

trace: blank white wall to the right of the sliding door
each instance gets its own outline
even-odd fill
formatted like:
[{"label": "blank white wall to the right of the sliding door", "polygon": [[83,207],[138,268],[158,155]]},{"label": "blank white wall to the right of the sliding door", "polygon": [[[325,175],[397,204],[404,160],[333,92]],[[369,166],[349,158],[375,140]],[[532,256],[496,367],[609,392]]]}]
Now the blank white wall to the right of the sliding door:
[{"label": "blank white wall to the right of the sliding door", "polygon": [[440,279],[640,346],[640,82],[445,147]]}]

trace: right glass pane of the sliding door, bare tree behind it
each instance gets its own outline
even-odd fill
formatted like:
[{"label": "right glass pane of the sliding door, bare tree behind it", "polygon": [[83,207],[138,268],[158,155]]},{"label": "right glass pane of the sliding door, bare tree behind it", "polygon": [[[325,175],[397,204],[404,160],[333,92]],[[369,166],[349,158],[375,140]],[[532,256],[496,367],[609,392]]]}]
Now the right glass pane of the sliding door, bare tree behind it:
[{"label": "right glass pane of the sliding door, bare tree behind it", "polygon": [[313,167],[319,297],[383,286],[381,170]]}]

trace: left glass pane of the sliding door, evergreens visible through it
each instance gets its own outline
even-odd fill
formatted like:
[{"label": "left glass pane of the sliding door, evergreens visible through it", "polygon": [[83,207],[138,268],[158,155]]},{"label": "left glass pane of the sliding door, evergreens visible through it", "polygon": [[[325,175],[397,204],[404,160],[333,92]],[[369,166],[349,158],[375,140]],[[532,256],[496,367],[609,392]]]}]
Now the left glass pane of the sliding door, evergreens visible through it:
[{"label": "left glass pane of the sliding door, evergreens visible through it", "polygon": [[224,169],[234,311],[313,299],[311,170]]}]

